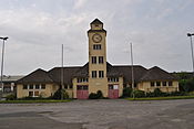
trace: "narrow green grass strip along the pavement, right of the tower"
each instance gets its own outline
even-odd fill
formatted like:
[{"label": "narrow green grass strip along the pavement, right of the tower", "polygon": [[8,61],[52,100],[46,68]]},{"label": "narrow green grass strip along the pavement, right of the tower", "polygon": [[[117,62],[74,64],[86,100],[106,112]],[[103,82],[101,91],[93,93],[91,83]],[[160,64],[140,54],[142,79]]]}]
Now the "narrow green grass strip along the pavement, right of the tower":
[{"label": "narrow green grass strip along the pavement, right of the tower", "polygon": [[125,98],[126,100],[171,100],[171,99],[194,99],[194,96],[169,96],[169,97],[146,97],[146,98]]}]

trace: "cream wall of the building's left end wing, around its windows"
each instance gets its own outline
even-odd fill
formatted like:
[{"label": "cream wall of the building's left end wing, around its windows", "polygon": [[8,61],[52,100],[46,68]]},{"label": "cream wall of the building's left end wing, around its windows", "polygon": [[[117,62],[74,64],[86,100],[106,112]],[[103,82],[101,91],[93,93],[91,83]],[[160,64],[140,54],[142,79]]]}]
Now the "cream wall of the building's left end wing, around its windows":
[{"label": "cream wall of the building's left end wing, around its windows", "polygon": [[23,85],[17,85],[17,98],[28,97],[29,92],[39,92],[42,97],[50,97],[54,95],[59,86],[54,84],[45,84],[45,89],[23,89]]}]

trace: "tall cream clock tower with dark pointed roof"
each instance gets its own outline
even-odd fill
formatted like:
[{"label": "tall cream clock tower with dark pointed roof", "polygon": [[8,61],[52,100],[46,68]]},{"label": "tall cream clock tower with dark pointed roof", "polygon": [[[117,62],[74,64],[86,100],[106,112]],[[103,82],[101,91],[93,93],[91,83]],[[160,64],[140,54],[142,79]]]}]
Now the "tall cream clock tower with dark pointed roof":
[{"label": "tall cream clock tower with dark pointed roof", "polygon": [[90,23],[89,36],[89,94],[101,90],[108,96],[106,78],[106,31],[95,19]]}]

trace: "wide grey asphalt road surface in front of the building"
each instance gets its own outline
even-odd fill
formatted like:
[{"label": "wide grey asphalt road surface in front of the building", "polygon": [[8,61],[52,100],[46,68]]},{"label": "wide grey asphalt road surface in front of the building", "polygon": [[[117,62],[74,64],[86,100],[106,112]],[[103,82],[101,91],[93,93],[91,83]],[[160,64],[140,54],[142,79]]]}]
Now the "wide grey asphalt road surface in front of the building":
[{"label": "wide grey asphalt road surface in front of the building", "polygon": [[0,104],[0,129],[194,129],[194,99]]}]

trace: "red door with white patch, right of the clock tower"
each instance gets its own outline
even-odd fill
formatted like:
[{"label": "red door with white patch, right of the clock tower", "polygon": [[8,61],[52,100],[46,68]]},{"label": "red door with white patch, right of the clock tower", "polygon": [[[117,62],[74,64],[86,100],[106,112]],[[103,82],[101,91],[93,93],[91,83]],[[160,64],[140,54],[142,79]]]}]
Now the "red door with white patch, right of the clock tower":
[{"label": "red door with white patch, right of the clock tower", "polygon": [[109,98],[119,98],[119,85],[109,85]]}]

